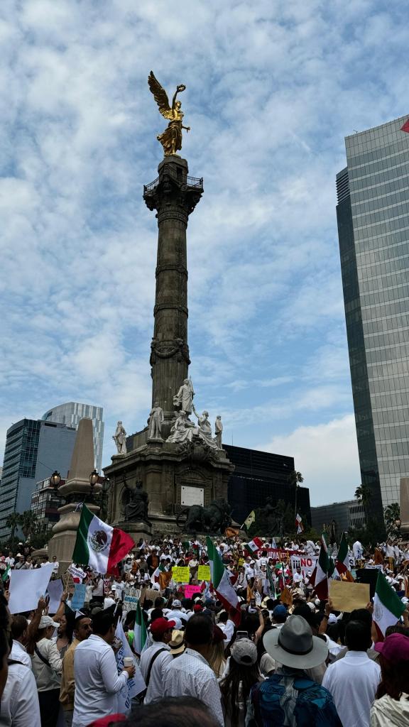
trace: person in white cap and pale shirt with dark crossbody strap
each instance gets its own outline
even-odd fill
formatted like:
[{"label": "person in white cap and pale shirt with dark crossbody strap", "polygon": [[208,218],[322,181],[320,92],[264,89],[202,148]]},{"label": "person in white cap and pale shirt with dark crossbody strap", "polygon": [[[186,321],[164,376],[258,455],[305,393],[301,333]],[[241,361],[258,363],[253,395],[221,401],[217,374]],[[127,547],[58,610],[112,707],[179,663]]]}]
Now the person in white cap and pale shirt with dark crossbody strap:
[{"label": "person in white cap and pale shirt with dark crossbody strap", "polygon": [[60,684],[63,660],[52,635],[60,626],[51,616],[43,616],[47,606],[40,598],[39,605],[28,626],[26,651],[31,656],[31,667],[39,693],[41,727],[56,727],[60,712]]}]

